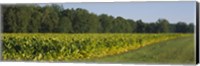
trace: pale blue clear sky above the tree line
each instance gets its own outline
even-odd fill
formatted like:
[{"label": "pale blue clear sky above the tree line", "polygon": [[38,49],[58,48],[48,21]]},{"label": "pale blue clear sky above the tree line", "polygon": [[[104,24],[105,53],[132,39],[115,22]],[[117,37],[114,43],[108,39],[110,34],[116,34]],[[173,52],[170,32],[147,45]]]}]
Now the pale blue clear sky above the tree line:
[{"label": "pale blue clear sky above the tree line", "polygon": [[159,18],[170,23],[179,21],[195,24],[196,2],[113,2],[113,3],[62,3],[67,8],[83,8],[95,14],[108,14],[114,17],[144,22],[156,22]]}]

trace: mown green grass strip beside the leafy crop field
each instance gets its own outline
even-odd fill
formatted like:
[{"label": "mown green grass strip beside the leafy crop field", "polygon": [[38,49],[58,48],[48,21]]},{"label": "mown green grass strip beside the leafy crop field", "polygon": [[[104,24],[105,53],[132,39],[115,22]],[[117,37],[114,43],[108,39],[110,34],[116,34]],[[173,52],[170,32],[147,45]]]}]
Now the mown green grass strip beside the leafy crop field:
[{"label": "mown green grass strip beside the leafy crop field", "polygon": [[95,63],[195,64],[194,37],[168,40],[123,54],[84,61]]}]

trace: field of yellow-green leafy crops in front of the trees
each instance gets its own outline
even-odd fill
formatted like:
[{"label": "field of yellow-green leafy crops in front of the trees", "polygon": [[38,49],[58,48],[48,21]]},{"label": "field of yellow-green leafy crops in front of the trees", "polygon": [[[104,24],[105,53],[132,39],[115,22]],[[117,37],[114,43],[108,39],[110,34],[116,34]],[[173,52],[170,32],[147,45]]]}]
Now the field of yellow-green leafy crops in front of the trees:
[{"label": "field of yellow-green leafy crops in front of the trees", "polygon": [[192,34],[3,34],[3,61],[75,61]]}]

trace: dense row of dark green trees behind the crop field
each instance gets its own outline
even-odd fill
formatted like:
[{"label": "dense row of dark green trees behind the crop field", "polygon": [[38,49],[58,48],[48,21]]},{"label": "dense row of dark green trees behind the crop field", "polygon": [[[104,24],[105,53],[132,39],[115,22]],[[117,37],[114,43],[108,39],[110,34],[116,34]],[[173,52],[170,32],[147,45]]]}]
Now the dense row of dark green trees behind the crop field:
[{"label": "dense row of dark green trees behind the crop field", "polygon": [[[4,33],[193,33],[194,24],[167,19],[142,20],[97,15],[86,9],[60,5],[3,5]],[[134,16],[134,15],[133,15]]]}]

